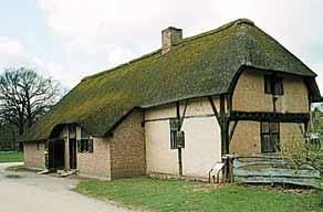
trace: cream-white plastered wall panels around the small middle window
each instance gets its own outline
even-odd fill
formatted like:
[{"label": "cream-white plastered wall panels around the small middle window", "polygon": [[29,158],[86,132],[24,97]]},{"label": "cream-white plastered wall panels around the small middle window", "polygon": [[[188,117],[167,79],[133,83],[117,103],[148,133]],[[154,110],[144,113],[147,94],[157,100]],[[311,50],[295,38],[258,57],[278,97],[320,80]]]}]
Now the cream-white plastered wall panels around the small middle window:
[{"label": "cream-white plastered wall panels around the small middle window", "polygon": [[[219,106],[219,99],[213,98]],[[180,103],[183,115],[185,102]],[[218,108],[219,109],[219,108]],[[170,149],[169,118],[176,118],[176,105],[154,107],[145,112],[147,173],[178,174],[178,150]],[[207,177],[215,162],[221,161],[220,129],[207,98],[188,100],[183,130],[183,172]]]}]

